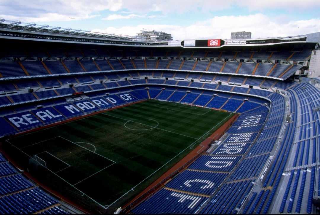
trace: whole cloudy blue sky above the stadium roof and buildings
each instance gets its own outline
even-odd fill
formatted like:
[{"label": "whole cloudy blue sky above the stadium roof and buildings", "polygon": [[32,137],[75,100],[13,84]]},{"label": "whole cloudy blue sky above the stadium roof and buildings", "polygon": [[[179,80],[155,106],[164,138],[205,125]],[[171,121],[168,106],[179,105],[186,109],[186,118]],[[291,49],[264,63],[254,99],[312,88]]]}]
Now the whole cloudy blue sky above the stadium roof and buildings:
[{"label": "whole cloudy blue sky above the stadium roof and buildings", "polygon": [[287,37],[320,32],[320,0],[1,0],[0,18],[123,36],[156,30],[173,40]]}]

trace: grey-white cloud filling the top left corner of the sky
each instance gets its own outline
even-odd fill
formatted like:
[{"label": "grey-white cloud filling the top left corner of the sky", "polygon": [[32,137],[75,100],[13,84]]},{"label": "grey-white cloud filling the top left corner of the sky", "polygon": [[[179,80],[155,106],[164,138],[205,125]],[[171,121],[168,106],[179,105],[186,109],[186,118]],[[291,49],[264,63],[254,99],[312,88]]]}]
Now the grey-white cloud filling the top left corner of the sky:
[{"label": "grey-white cloud filling the top left corner of the sky", "polygon": [[[20,20],[22,22],[66,21],[68,17],[76,20],[90,19],[99,16],[98,12],[118,11],[121,9],[121,0],[2,0],[0,14],[6,20]],[[5,13],[4,13],[5,12]]]}]

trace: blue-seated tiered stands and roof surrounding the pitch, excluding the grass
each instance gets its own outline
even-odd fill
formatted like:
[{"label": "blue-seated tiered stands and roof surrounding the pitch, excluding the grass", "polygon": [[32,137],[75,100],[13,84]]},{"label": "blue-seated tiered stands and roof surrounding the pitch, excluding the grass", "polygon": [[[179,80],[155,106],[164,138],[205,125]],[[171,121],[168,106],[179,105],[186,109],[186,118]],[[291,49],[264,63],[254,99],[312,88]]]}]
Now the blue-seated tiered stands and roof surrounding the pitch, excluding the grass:
[{"label": "blue-seated tiered stands and roof surrounding the pitch, excluding the grass", "polygon": [[317,42],[306,36],[142,42],[4,20],[0,27],[1,213],[73,212],[29,181],[27,164],[18,162],[20,171],[7,161],[8,138],[146,99],[239,117],[184,171],[118,212],[316,213]]}]

